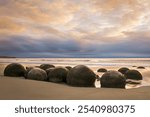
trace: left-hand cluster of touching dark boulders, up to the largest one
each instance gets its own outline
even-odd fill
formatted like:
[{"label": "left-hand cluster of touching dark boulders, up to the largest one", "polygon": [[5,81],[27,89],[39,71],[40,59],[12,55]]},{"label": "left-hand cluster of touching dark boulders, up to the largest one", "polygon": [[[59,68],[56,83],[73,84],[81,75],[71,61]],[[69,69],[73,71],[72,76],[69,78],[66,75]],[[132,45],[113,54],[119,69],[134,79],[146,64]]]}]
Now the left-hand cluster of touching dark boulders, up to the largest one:
[{"label": "left-hand cluster of touching dark boulders, up to the largest one", "polygon": [[70,86],[94,87],[98,77],[90,68],[84,65],[75,67],[55,67],[50,64],[42,64],[36,67],[26,67],[18,63],[9,64],[4,70],[5,76],[19,77],[26,79],[48,81],[54,83],[67,83]]}]

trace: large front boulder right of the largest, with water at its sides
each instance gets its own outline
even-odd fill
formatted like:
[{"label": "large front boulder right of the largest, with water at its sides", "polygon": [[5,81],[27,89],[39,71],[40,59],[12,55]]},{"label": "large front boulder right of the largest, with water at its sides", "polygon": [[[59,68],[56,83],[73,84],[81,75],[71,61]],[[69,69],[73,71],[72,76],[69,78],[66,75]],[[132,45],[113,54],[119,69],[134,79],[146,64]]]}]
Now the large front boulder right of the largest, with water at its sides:
[{"label": "large front boulder right of the largest, with water at its sides", "polygon": [[108,71],[102,75],[100,84],[106,88],[125,88],[126,79],[118,71]]}]

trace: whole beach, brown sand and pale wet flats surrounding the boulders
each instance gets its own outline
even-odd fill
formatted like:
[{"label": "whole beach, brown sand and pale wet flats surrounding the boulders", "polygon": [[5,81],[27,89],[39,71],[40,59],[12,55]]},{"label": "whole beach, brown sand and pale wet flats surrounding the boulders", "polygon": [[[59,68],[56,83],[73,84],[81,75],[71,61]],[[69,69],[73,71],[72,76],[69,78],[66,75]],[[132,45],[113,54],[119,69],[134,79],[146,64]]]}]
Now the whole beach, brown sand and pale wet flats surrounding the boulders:
[{"label": "whole beach, brown sand and pale wet flats surrounding the boulders", "polygon": [[[130,87],[126,89],[119,88],[100,88],[98,86],[99,82],[96,82],[97,88],[89,88],[89,87],[72,87],[67,84],[59,84],[59,83],[51,83],[44,81],[35,81],[24,79],[23,77],[6,77],[3,75],[4,68],[12,62],[21,63],[24,67],[26,66],[38,66],[40,63],[54,63],[55,66],[67,66],[71,65],[72,67],[76,64],[84,64],[87,65],[90,69],[92,69],[99,76],[102,73],[97,73],[97,69],[100,67],[106,68],[108,70],[118,70],[120,67],[125,66],[130,69],[134,68],[133,65],[129,62],[127,64],[110,64],[108,61],[101,62],[96,65],[96,62],[92,64],[92,62],[86,60],[82,61],[79,59],[75,62],[62,62],[60,59],[51,59],[53,61],[47,61],[47,59],[42,59],[35,61],[28,59],[1,59],[0,63],[0,99],[2,100],[147,100],[150,99],[150,67],[149,61],[146,62],[138,62],[138,65],[144,65],[145,69],[138,69],[143,76],[143,81],[140,85],[135,87]],[[43,61],[44,60],[44,61]],[[55,62],[54,62],[55,60]],[[26,61],[26,62],[25,62]],[[68,60],[65,60],[68,61]],[[73,60],[74,61],[74,60]],[[56,64],[58,63],[58,64]],[[87,64],[89,63],[89,64]],[[104,65],[105,63],[105,65]],[[113,62],[112,62],[113,63]],[[132,63],[132,62],[131,62]],[[137,64],[136,64],[137,65]],[[146,66],[147,65],[147,66]]]}]

